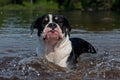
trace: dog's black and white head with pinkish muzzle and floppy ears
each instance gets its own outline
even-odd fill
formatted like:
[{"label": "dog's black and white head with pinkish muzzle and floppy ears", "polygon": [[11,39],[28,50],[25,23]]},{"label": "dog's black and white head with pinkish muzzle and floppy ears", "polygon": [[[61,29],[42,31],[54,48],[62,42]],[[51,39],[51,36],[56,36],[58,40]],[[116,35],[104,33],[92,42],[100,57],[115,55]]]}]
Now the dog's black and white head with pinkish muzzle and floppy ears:
[{"label": "dog's black and white head with pinkish muzzle and floppy ears", "polygon": [[70,34],[71,27],[68,20],[62,15],[53,15],[47,14],[36,21],[31,25],[31,34],[33,29],[38,30],[38,36],[41,36],[45,39],[61,39]]}]

